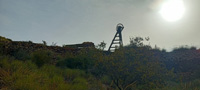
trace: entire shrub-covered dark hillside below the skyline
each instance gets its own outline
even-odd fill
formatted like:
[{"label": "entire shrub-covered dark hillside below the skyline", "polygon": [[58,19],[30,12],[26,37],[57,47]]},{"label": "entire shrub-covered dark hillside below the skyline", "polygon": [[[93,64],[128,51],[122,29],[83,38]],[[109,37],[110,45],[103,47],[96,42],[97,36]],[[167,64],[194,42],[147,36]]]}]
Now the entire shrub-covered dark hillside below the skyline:
[{"label": "entire shrub-covered dark hillside below the skyline", "polygon": [[199,50],[166,52],[143,40],[131,38],[129,45],[108,54],[105,47],[50,47],[0,37],[0,89],[200,89]]}]

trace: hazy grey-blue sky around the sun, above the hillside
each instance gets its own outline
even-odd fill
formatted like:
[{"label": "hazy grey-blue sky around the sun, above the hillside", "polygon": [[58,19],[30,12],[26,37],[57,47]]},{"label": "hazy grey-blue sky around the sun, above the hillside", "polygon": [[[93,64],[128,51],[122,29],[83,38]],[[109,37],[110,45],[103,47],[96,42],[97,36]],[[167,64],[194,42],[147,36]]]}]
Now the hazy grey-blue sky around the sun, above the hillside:
[{"label": "hazy grey-blue sky around the sun, above the hillside", "polygon": [[0,36],[57,45],[104,40],[109,47],[116,25],[122,23],[125,45],[129,37],[149,36],[152,46],[168,50],[200,47],[200,0],[184,0],[185,14],[175,22],[161,17],[158,1],[0,0]]}]

